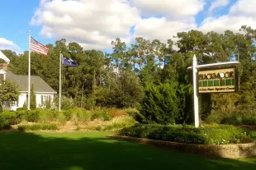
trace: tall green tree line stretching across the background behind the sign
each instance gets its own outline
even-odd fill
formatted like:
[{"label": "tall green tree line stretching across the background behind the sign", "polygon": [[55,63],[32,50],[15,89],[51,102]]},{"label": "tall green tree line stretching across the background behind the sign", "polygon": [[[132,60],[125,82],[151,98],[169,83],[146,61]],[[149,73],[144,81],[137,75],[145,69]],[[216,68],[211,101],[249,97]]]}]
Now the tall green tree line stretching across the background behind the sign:
[{"label": "tall green tree line stretching across the background behind the sign", "polygon": [[[31,75],[40,76],[54,90],[59,91],[59,53],[78,62],[78,67],[63,67],[63,94],[73,99],[74,105],[82,108],[128,108],[141,110],[140,119],[151,117],[168,122],[192,120],[192,66],[193,54],[198,64],[239,61],[239,93],[200,94],[201,118],[211,110],[255,108],[256,96],[256,30],[243,25],[239,33],[225,30],[190,30],[178,32],[174,41],[167,44],[142,37],[134,44],[126,44],[116,38],[111,41],[112,53],[98,50],[83,50],[65,39],[55,44],[47,44],[50,53],[47,57],[31,53]],[[10,70],[15,74],[27,74],[28,52],[21,55],[10,50],[2,50],[11,63]],[[164,96],[164,97],[163,97]],[[154,106],[154,107],[153,107]],[[156,109],[157,108],[157,109]],[[157,117],[148,115],[157,112]],[[145,122],[149,119],[145,120]]]}]

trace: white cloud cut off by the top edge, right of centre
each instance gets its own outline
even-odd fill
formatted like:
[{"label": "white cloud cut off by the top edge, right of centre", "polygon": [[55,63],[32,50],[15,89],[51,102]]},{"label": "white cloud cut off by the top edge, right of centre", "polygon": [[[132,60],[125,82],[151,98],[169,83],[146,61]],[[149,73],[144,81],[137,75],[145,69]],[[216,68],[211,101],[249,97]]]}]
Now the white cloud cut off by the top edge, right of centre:
[{"label": "white cloud cut off by the top edge, right of centre", "polygon": [[205,0],[131,0],[145,15],[164,15],[167,18],[195,16],[203,10]]}]

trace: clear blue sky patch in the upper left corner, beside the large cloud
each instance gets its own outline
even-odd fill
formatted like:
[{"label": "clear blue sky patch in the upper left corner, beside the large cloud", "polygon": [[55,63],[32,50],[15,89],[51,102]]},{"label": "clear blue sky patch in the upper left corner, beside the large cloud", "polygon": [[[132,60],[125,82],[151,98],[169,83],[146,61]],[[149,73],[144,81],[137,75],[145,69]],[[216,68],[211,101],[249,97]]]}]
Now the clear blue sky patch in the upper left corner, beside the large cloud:
[{"label": "clear blue sky patch in the upper left corner, beside the large cloud", "polygon": [[11,40],[21,50],[28,50],[28,30],[31,36],[43,44],[52,44],[54,39],[45,39],[40,35],[40,27],[31,26],[31,17],[34,15],[40,0],[7,0],[0,5],[0,37]]}]

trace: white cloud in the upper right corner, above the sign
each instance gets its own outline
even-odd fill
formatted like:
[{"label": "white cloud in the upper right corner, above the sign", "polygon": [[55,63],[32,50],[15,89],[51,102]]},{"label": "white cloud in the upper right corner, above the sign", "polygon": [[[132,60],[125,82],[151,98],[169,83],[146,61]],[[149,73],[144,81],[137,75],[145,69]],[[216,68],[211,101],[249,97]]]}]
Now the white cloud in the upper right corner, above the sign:
[{"label": "white cloud in the upper right corner, above the sign", "polygon": [[256,1],[238,0],[230,7],[230,11],[225,16],[207,17],[201,22],[199,30],[223,32],[232,30],[239,32],[242,25],[248,25],[256,28]]}]

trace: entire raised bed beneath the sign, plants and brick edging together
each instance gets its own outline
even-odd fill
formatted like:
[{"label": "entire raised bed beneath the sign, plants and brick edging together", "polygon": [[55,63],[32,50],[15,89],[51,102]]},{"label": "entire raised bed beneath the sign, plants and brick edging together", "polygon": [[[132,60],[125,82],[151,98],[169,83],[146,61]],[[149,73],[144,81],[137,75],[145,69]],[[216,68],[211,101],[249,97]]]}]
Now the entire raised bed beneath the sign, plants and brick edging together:
[{"label": "entire raised bed beneath the sign, plants and brick edging together", "polygon": [[256,144],[242,128],[229,125],[164,126],[136,124],[118,131],[118,140],[137,141],[207,157],[246,158],[256,155]]}]

